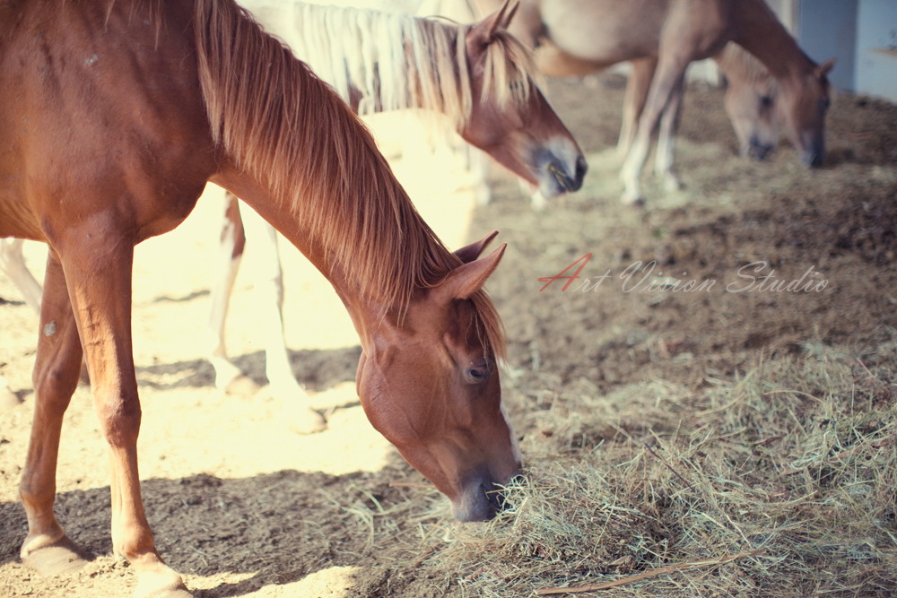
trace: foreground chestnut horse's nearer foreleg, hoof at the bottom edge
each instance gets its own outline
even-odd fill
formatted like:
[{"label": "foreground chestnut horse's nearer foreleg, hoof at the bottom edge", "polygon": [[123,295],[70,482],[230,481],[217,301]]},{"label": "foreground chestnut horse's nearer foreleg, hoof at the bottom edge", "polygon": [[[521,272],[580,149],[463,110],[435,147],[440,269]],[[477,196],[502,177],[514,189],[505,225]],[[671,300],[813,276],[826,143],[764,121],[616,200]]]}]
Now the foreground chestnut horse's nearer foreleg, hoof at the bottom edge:
[{"label": "foreground chestnut horse's nearer foreleg, hoof at the bottom edge", "polygon": [[115,238],[115,230],[108,221],[69,230],[77,242],[60,256],[90,368],[93,409],[109,444],[112,546],[135,569],[135,598],[187,598],[180,576],[156,550],[140,494],[141,410],[131,342],[134,249],[130,238]]}]

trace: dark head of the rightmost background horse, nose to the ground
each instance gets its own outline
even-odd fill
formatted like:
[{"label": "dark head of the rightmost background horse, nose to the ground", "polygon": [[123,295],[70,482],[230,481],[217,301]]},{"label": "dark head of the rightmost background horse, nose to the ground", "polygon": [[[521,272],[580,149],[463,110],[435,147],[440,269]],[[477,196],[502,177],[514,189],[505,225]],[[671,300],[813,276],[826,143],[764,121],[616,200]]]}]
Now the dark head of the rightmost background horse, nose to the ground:
[{"label": "dark head of the rightmost background horse, nose to the ground", "polygon": [[825,158],[825,112],[831,103],[832,85],[826,76],[835,65],[830,58],[814,65],[797,82],[782,82],[782,117],[788,138],[807,166],[820,166]]}]

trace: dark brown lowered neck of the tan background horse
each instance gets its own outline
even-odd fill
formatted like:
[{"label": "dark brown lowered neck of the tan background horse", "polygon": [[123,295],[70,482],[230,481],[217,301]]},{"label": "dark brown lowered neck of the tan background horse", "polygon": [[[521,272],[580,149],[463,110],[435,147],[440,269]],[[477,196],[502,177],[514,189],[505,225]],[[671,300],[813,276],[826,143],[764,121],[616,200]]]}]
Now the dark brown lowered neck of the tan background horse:
[{"label": "dark brown lowered neck of the tan background horse", "polygon": [[756,56],[779,82],[787,84],[813,72],[814,63],[763,0],[733,3],[734,41]]}]

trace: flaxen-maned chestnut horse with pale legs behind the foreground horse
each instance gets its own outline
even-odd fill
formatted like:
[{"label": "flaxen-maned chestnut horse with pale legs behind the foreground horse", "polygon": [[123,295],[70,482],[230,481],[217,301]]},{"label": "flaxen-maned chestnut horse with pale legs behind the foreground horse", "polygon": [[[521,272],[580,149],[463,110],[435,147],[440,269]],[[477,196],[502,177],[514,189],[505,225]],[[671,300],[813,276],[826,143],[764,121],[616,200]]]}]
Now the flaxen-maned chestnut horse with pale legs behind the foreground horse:
[{"label": "flaxen-maned chestnut horse with pale legs behind the foreground horse", "polygon": [[[506,31],[513,17],[507,1],[483,21],[463,26],[302,2],[240,4],[331,83],[355,112],[439,112],[466,141],[536,185],[540,195],[554,197],[582,185],[586,160],[536,86],[530,51]],[[224,342],[228,301],[247,236],[260,258],[254,286],[265,318],[266,376],[272,392],[300,404],[293,412],[293,429],[323,429],[323,418],[311,409],[293,376],[283,339],[283,273],[276,233],[241,208],[233,195],[225,207],[208,325],[215,385],[233,392],[254,389],[228,359]]]}]

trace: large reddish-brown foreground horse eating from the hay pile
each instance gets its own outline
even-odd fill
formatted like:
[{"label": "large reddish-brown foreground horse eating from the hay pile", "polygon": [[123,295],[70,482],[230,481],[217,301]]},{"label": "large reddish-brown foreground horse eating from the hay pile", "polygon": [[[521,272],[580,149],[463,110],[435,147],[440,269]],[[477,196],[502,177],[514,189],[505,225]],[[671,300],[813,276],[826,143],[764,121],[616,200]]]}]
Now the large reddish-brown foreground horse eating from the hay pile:
[{"label": "large reddish-brown foreground horse eating from the hay pile", "polygon": [[83,564],[53,502],[86,354],[113,548],[138,598],[190,595],[144,515],[131,271],[135,244],[178,226],[207,181],[333,283],[361,338],[356,384],[374,428],[457,519],[496,513],[493,490],[520,471],[501,405],[501,320],[483,292],[503,245],[478,258],[490,236],[449,252],[344,101],[232,0],[7,0],[0,23],[0,237],[49,246],[19,490],[27,564]]}]

